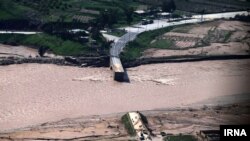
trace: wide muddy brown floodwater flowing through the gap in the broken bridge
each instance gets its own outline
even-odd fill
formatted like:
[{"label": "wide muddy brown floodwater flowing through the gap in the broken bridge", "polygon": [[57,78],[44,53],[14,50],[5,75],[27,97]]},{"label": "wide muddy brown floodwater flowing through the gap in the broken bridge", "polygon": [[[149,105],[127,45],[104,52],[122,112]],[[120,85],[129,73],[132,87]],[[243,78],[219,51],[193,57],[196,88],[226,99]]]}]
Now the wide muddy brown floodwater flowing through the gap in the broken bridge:
[{"label": "wide muddy brown floodwater flowing through the gap in the broken bridge", "polygon": [[130,83],[114,82],[108,68],[0,66],[0,131],[85,115],[185,107],[250,92],[250,60],[154,64],[127,71]]}]

